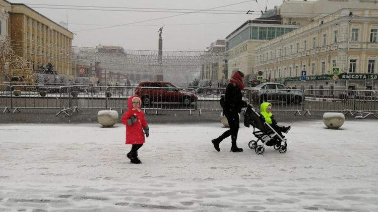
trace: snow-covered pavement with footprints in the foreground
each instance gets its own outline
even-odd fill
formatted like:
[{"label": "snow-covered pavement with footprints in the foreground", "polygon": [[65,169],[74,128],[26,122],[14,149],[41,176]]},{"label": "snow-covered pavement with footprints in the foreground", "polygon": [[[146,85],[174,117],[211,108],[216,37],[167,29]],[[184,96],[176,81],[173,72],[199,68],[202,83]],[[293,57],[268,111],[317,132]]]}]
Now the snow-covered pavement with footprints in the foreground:
[{"label": "snow-covered pavement with footprints in the foreground", "polygon": [[240,126],[231,153],[221,124],[150,125],[131,164],[121,124],[0,125],[0,211],[378,211],[377,121],[291,123],[264,155]]}]

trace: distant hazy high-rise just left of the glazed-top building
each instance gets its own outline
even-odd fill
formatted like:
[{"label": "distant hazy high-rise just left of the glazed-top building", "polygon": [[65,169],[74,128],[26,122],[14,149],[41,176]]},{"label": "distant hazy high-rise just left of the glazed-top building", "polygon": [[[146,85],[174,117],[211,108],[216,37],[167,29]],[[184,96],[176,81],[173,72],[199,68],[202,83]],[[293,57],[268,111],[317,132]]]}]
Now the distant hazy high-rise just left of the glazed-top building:
[{"label": "distant hazy high-rise just left of the glazed-top building", "polygon": [[[217,55],[219,58],[215,61],[209,61],[208,63],[202,65],[201,69],[201,80],[208,80],[212,83],[218,83],[225,78],[225,60],[221,59],[222,55],[225,55],[226,50],[226,40],[216,40],[212,42],[207,48],[205,55]],[[209,56],[211,57],[211,56]]]}]

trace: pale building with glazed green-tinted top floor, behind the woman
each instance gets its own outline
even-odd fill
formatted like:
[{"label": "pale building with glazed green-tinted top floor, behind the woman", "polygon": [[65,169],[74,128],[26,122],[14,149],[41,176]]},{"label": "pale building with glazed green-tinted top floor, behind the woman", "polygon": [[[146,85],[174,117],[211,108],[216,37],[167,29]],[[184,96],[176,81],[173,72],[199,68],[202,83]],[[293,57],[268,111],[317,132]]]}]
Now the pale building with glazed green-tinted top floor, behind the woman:
[{"label": "pale building with glazed green-tinted top floor, behind the woman", "polygon": [[[293,20],[295,20],[293,18]],[[228,72],[226,78],[235,71],[242,71],[246,75],[254,73],[255,48],[268,40],[291,32],[300,26],[294,21],[283,23],[279,9],[275,7],[261,18],[248,20],[226,37],[226,52],[228,53]],[[299,23],[299,22],[298,22]],[[282,49],[273,50],[270,55],[282,54]],[[269,55],[270,54],[270,55]],[[253,77],[250,77],[250,79]]]}]

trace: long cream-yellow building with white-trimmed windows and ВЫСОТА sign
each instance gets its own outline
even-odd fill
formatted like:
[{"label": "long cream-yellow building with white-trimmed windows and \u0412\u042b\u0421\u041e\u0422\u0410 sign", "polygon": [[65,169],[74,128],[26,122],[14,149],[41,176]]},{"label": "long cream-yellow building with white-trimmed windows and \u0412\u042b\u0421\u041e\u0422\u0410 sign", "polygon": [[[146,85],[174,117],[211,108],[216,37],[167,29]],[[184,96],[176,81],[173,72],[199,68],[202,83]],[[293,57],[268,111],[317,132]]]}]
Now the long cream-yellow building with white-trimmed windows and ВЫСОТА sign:
[{"label": "long cream-yellow building with white-trimmed windows and \u0412\u042b\u0421\u041e\u0422\u0410 sign", "polygon": [[[255,73],[262,71],[268,80],[292,87],[374,89],[374,79],[378,79],[378,5],[369,1],[334,2],[306,3],[312,8],[306,16],[311,22],[257,46]],[[295,8],[303,2],[287,3],[283,6]],[[325,4],[327,7],[322,7]],[[353,7],[362,9],[350,9]],[[322,13],[332,10],[336,11]],[[271,54],[277,49],[284,51]],[[334,77],[333,70],[341,74]],[[301,82],[302,71],[305,83]]]}]

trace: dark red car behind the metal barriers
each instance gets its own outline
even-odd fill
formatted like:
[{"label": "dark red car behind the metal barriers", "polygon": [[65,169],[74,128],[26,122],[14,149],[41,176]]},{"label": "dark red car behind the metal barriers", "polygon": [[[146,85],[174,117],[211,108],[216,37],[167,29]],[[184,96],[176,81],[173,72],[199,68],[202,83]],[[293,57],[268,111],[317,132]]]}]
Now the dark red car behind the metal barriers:
[{"label": "dark red car behind the metal barriers", "polygon": [[194,91],[181,89],[164,81],[141,82],[135,89],[135,94],[141,96],[144,105],[151,102],[181,102],[189,105],[197,100]]}]

